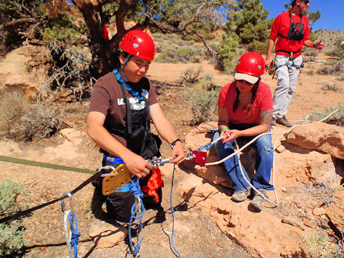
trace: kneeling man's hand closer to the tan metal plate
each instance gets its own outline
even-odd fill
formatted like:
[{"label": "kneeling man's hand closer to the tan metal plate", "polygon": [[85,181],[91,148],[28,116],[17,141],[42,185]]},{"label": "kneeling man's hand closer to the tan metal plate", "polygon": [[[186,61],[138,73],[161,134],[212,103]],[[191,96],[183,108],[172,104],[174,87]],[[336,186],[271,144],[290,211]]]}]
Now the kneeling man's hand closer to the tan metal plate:
[{"label": "kneeling man's hand closer to the tan metal plate", "polygon": [[133,152],[127,154],[126,157],[122,157],[122,159],[126,164],[126,168],[138,178],[145,177],[153,168],[148,161]]}]

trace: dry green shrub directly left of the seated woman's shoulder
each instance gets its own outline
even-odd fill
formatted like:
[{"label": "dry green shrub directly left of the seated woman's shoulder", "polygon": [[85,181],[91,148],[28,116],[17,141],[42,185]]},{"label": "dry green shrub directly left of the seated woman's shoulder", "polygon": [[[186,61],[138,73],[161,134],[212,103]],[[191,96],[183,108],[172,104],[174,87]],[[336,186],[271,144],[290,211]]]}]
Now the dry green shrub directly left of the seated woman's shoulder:
[{"label": "dry green shrub directly left of the seated woman's shoulder", "polygon": [[216,119],[218,110],[218,89],[208,90],[205,86],[194,87],[185,95],[192,111],[193,125]]}]

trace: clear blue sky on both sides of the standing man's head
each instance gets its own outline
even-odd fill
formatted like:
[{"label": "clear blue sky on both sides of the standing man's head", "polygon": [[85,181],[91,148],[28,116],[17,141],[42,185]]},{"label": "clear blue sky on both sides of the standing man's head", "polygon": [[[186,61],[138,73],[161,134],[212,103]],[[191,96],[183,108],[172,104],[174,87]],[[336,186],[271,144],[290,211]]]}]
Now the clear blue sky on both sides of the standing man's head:
[{"label": "clear blue sky on both sides of the standing man's head", "polygon": [[[274,18],[286,9],[283,4],[291,0],[260,0],[264,9],[269,10],[267,18]],[[310,0],[309,11],[320,11],[322,17],[315,22],[313,29],[344,30],[344,0]]]}]

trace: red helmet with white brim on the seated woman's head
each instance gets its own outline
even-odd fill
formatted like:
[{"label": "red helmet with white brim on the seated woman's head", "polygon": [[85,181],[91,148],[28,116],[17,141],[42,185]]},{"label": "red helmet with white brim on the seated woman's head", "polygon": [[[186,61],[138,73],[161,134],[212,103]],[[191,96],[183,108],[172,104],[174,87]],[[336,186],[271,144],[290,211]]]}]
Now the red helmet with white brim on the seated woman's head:
[{"label": "red helmet with white brim on the seated woman's head", "polygon": [[245,53],[238,61],[237,72],[234,74],[234,79],[256,83],[259,76],[264,74],[264,68],[265,61],[260,54],[255,52]]}]

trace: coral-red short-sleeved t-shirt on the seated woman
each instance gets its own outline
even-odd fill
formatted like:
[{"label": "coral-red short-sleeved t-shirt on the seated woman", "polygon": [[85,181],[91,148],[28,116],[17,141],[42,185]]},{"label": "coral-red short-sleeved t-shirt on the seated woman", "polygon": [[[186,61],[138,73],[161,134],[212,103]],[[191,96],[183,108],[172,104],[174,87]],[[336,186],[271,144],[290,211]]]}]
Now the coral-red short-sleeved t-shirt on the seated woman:
[{"label": "coral-red short-sleeved t-shirt on the seated woman", "polygon": [[228,109],[229,123],[260,123],[259,111],[271,110],[273,107],[272,94],[269,86],[260,81],[257,88],[256,99],[253,102],[252,116],[251,118],[246,118],[248,114],[248,107],[242,109],[237,108],[237,111],[233,113],[233,106],[237,93],[235,89],[237,88],[235,81],[227,84],[220,91],[218,96],[218,107],[223,109]]}]

